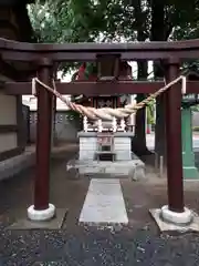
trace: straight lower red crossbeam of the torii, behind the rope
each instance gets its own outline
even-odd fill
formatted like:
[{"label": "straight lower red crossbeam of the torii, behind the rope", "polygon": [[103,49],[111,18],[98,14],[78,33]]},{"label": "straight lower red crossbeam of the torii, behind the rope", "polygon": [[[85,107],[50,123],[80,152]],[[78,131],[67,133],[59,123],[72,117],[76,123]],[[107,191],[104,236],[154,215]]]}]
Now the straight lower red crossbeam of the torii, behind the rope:
[{"label": "straight lower red crossbeam of the torii, behind the rope", "polygon": [[[56,90],[61,94],[84,94],[86,96],[96,95],[117,95],[117,94],[136,94],[136,93],[154,93],[164,86],[164,82],[56,82]],[[6,82],[3,84],[4,92],[9,95],[32,94],[31,82]],[[187,93],[199,94],[199,81],[187,82]]]}]

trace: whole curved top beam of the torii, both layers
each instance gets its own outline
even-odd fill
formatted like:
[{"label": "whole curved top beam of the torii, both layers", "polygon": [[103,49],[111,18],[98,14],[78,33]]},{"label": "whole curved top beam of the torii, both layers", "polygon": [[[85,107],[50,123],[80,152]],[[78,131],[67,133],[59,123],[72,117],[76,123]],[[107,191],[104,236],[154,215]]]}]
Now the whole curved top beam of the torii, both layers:
[{"label": "whole curved top beam of the torii, both layers", "polygon": [[119,54],[122,60],[160,60],[199,57],[199,40],[139,43],[24,43],[0,39],[0,54],[4,60],[36,61],[48,58],[54,62],[95,61],[97,55]]}]

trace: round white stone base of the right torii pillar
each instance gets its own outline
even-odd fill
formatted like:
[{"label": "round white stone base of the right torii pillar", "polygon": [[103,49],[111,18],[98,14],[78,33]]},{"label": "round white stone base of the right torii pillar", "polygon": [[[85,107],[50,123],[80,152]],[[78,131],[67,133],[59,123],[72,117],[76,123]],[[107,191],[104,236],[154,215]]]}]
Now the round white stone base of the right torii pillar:
[{"label": "round white stone base of the right torii pillar", "polygon": [[186,225],[190,224],[193,218],[193,214],[190,209],[185,207],[184,213],[176,213],[168,208],[168,205],[161,207],[160,216],[165,222],[176,224],[176,225]]}]

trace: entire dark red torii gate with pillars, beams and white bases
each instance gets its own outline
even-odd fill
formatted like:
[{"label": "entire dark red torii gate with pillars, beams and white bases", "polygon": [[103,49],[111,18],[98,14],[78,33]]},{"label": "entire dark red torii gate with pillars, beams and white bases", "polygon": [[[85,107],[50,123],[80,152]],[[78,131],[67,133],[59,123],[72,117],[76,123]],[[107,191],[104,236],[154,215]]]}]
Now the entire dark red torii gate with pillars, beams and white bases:
[{"label": "entire dark red torii gate with pillars, beams and white bases", "polygon": [[[38,64],[38,78],[52,86],[52,68],[54,62],[95,61],[98,54],[119,54],[121,60],[166,60],[167,82],[179,75],[181,59],[197,58],[199,40],[181,42],[150,43],[73,43],[73,44],[31,44],[0,40],[0,55],[3,60],[34,62]],[[56,83],[56,90],[64,94],[153,93],[164,86],[163,82],[71,82]],[[31,82],[7,82],[3,85],[8,94],[31,94]],[[36,85],[38,93],[38,137],[36,137],[36,176],[34,204],[29,217],[45,221],[53,217],[55,208],[49,204],[51,112],[52,94]],[[188,82],[187,93],[199,93],[198,82]],[[190,215],[184,204],[182,158],[181,158],[181,90],[176,83],[166,92],[167,124],[167,180],[168,207],[164,208],[169,222],[187,223]],[[30,211],[30,209],[29,209]],[[164,213],[163,213],[164,214]],[[184,216],[185,214],[185,216]],[[176,216],[175,216],[176,215]],[[174,217],[177,217],[176,221]],[[180,218],[179,218],[180,217]],[[181,218],[182,217],[182,218]],[[179,219],[178,219],[179,218]]]}]

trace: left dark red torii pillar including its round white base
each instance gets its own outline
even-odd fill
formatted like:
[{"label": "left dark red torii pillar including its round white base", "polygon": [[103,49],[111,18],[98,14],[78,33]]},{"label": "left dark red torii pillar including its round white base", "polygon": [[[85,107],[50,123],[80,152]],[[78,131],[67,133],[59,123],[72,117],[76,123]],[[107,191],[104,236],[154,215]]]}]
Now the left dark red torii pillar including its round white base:
[{"label": "left dark red torii pillar including its round white base", "polygon": [[[42,59],[38,76],[46,85],[52,85],[52,62]],[[34,204],[28,208],[32,221],[49,221],[55,215],[55,207],[49,203],[50,153],[52,131],[52,94],[36,84],[38,127],[36,127],[36,173],[34,183]]]}]

